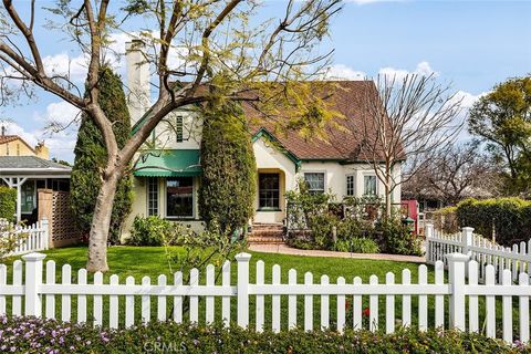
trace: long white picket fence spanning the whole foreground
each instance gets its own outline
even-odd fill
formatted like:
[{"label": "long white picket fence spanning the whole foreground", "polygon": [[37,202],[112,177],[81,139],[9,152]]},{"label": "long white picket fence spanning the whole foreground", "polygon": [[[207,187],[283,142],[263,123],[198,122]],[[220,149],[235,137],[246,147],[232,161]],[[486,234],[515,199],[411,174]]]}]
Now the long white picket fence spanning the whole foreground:
[{"label": "long white picket fence spanning the whole foreground", "polygon": [[[504,270],[502,284],[496,284],[494,268],[487,266],[486,284],[478,284],[478,263],[469,261],[467,266],[468,256],[460,253],[447,256],[449,277],[446,283],[441,261],[435,263],[433,283],[428,282],[428,269],[425,264],[419,266],[417,283],[412,282],[408,269],[402,271],[402,283],[395,282],[395,274],[391,272],[386,274],[383,283],[376,275],[372,275],[368,283],[362,283],[358,277],[353,278],[352,283],[347,283],[343,277],[337,278],[335,283],[330,283],[327,275],[322,275],[320,282],[314,283],[310,272],[304,274],[303,283],[298,283],[296,271],[291,269],[285,283],[281,281],[281,269],[278,264],[272,267],[272,282],[266,283],[264,263],[258,261],[256,282],[250,283],[251,256],[248,253],[236,256],[238,264],[236,284],[230,282],[231,263],[228,261],[220,269],[221,284],[216,284],[216,269],[211,264],[206,268],[205,281],[200,281],[199,271],[192,269],[188,284],[184,284],[184,274],[176,272],[171,285],[167,284],[166,275],[159,275],[156,284],[152,284],[148,277],[142,278],[140,283],[135,283],[133,277],[127,277],[125,283],[121,283],[116,274],[110,277],[108,283],[104,283],[101,272],[94,273],[93,283],[88,283],[87,272],[84,269],[77,271],[76,282],[72,283],[71,267],[65,264],[62,267],[61,281],[56,283],[54,261],[46,262],[45,281],[43,281],[44,258],[45,254],[41,253],[22,257],[25,262],[24,282],[22,282],[24,263],[20,260],[14,261],[12,284],[7,284],[7,267],[0,264],[0,315],[4,315],[10,305],[12,315],[41,316],[44,314],[45,317],[54,319],[58,314],[62,321],[74,321],[75,317],[76,322],[93,322],[94,325],[108,325],[113,329],[128,327],[140,321],[149,322],[152,316],[160,321],[170,317],[176,322],[181,322],[187,316],[191,322],[205,321],[206,323],[222,319],[228,324],[231,320],[236,320],[242,327],[253,323],[257,331],[263,331],[266,310],[271,309],[268,327],[270,324],[274,332],[279,332],[281,327],[292,329],[301,325],[306,331],[332,327],[342,332],[347,326],[368,327],[371,331],[385,329],[385,332],[391,333],[398,325],[412,326],[415,323],[420,330],[435,326],[479,332],[485,324],[485,334],[489,337],[496,337],[501,333],[502,339],[510,343],[514,339],[522,342],[529,341],[531,295],[529,277],[524,273],[520,274],[517,285],[511,281],[511,271]],[[465,278],[466,271],[468,271],[468,283]],[[285,309],[285,298],[283,299],[285,295],[288,311],[283,313],[282,304]],[[61,299],[58,303],[56,296]],[[319,311],[314,308],[315,296],[320,303]],[[483,296],[485,306],[483,300],[480,300]],[[502,296],[501,323],[499,320],[497,323],[496,296]],[[518,322],[513,322],[513,296],[519,298],[518,312],[514,315],[518,316]],[[92,298],[90,308],[87,306],[87,303],[91,303],[87,301],[88,298]],[[199,306],[200,298],[205,300],[201,306]],[[216,298],[220,299],[220,302],[216,302]],[[428,308],[428,298],[435,298],[433,301],[435,308]],[[232,304],[236,306],[231,309],[233,299],[236,303],[232,302]],[[251,299],[254,300],[252,308]],[[417,299],[418,301],[415,302]],[[153,300],[155,302],[152,302]],[[333,300],[336,308],[331,311]],[[368,321],[364,321],[364,314],[366,314],[366,309],[363,308],[364,300],[368,300],[369,313],[368,319],[365,317]],[[385,305],[382,306],[381,300],[385,300]],[[412,311],[412,300],[414,305],[418,303],[418,306],[415,305],[416,313]],[[446,308],[445,300],[448,300],[449,309]],[[348,305],[352,302],[352,306],[347,305],[347,301]],[[216,303],[218,305],[215,305]],[[396,323],[397,308],[402,310],[399,324]],[[480,311],[480,309],[485,310]],[[153,310],[155,311],[152,314]],[[299,315],[298,311],[300,311]],[[104,313],[108,322],[104,321]],[[449,321],[445,320],[445,314],[449,314]],[[428,316],[433,320],[428,321]],[[319,323],[315,323],[316,319]],[[346,319],[350,319],[348,323]],[[513,326],[517,329],[516,333],[513,333]]]}]

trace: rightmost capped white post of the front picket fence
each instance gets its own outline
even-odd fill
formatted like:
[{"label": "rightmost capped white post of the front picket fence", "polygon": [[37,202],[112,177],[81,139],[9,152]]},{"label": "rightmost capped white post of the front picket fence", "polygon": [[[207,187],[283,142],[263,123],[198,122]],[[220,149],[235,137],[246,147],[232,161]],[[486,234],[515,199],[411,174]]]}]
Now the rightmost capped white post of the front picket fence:
[{"label": "rightmost capped white post of the front picket fence", "polygon": [[450,284],[450,329],[465,331],[465,268],[468,254],[446,254],[448,260],[448,283]]}]

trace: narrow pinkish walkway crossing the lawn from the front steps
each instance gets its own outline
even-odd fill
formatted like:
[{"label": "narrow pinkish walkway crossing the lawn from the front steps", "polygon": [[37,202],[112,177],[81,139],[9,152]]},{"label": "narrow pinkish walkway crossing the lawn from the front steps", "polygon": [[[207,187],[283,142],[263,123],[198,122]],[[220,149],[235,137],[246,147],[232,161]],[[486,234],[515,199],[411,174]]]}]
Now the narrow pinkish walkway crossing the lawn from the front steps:
[{"label": "narrow pinkish walkway crossing the lawn from the front steps", "polygon": [[416,256],[384,254],[384,253],[350,253],[321,250],[300,250],[285,244],[251,244],[249,250],[264,253],[308,256],[308,257],[335,257],[352,259],[373,259],[399,262],[425,263],[426,258]]}]

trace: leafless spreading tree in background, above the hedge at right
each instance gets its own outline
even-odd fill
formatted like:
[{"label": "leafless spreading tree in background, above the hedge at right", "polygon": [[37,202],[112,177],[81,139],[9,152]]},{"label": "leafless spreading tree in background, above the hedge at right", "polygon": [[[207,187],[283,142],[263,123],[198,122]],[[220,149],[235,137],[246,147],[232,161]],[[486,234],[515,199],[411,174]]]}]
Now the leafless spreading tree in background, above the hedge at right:
[{"label": "leafless spreading tree in background, above the hedge at right", "polygon": [[501,186],[501,171],[476,144],[438,148],[405,185],[410,196],[437,198],[456,205],[467,197],[492,197]]}]

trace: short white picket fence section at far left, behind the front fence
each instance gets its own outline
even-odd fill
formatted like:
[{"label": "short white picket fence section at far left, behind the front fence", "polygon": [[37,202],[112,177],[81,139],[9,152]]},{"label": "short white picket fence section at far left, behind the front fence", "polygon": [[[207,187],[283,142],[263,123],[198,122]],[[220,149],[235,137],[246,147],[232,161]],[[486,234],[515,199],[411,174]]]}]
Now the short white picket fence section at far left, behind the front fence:
[{"label": "short white picket fence section at far left, behind the front fence", "polygon": [[[8,225],[8,221],[0,220],[0,222]],[[17,226],[9,223],[9,228],[15,233],[21,235],[17,248],[8,256],[19,256],[34,251],[43,251],[49,248],[49,221],[43,218],[31,226]],[[8,232],[0,232],[0,238],[9,237]]]}]

